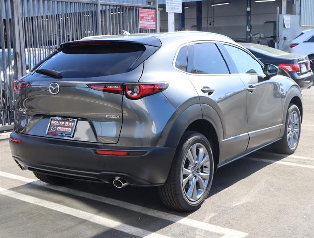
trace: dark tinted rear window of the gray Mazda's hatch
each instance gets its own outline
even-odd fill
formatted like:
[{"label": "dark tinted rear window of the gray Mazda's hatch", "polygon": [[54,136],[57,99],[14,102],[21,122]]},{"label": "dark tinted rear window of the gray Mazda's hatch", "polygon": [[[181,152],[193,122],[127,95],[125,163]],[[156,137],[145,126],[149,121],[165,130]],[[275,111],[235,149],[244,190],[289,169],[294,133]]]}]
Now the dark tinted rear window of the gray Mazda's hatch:
[{"label": "dark tinted rear window of the gray Mazda's hatch", "polygon": [[145,47],[136,43],[65,45],[38,69],[58,71],[63,78],[107,76],[129,71]]}]

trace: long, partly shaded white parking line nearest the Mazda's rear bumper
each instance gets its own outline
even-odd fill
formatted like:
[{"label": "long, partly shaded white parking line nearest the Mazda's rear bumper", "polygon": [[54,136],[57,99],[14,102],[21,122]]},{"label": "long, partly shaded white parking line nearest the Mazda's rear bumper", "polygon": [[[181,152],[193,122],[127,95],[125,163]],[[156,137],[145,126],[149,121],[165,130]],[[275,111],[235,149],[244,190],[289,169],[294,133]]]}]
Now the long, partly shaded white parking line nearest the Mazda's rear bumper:
[{"label": "long, partly shaded white parking line nearest the Mazda's rear bumper", "polygon": [[112,198],[108,198],[108,197],[103,197],[103,196],[95,195],[92,193],[82,192],[82,191],[74,190],[71,188],[48,185],[48,184],[41,182],[41,181],[38,181],[38,180],[29,179],[29,178],[26,178],[23,176],[18,176],[18,175],[14,175],[14,174],[3,172],[3,171],[0,171],[0,176],[7,177],[10,179],[20,180],[20,181],[27,182],[27,183],[32,182],[32,184],[44,186],[44,187],[47,187],[47,188],[52,189],[52,190],[64,192],[64,193],[75,195],[75,196],[84,197],[84,198],[95,200],[98,202],[107,203],[107,204],[110,204],[113,206],[122,207],[122,208],[125,208],[128,210],[134,211],[134,212],[139,212],[139,213],[146,214],[146,215],[149,215],[152,217],[161,218],[161,219],[172,221],[175,223],[180,223],[180,224],[194,227],[197,229],[202,229],[205,231],[218,233],[218,234],[223,235],[224,238],[227,238],[227,237],[228,238],[243,238],[243,237],[246,237],[248,235],[247,233],[240,232],[237,230],[212,225],[212,224],[209,224],[206,222],[201,222],[201,221],[197,221],[194,219],[190,219],[190,218],[186,218],[186,217],[182,217],[182,216],[178,216],[178,215],[173,215],[170,213],[158,211],[158,210],[147,208],[147,207],[142,207],[139,205],[135,205],[135,204],[120,201],[120,200],[116,200],[116,199],[112,199]]}]

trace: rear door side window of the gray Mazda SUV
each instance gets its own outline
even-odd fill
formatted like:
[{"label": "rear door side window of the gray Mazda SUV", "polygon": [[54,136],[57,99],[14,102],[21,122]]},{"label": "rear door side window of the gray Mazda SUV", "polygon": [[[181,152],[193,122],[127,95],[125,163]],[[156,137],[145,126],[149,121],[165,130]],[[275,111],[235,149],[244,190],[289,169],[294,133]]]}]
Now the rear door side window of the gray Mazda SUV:
[{"label": "rear door side window of the gray Mazda SUV", "polygon": [[189,73],[229,74],[229,70],[225,63],[225,60],[222,58],[216,44],[214,43],[195,44],[193,45],[193,48],[194,48],[193,53],[188,54],[187,71]]}]

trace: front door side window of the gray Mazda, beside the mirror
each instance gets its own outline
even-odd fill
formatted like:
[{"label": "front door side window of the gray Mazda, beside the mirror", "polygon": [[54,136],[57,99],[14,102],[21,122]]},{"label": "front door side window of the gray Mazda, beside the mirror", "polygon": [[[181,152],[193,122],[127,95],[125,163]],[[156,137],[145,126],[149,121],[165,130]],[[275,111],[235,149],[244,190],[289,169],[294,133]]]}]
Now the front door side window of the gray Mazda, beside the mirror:
[{"label": "front door side window of the gray Mazda, beside the mirror", "polygon": [[248,53],[237,47],[225,45],[239,73],[263,74],[262,66]]}]

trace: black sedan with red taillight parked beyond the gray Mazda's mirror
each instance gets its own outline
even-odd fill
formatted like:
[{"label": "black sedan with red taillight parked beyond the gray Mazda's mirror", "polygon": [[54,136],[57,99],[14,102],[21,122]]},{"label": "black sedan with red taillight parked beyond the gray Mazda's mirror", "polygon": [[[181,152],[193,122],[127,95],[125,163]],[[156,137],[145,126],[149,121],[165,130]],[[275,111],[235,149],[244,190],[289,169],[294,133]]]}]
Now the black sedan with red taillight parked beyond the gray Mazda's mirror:
[{"label": "black sedan with red taillight parked beyond the gray Mazda's mirror", "polygon": [[269,46],[240,43],[253,53],[262,63],[270,63],[279,67],[279,73],[291,77],[302,88],[313,84],[313,72],[308,56],[281,51]]}]

